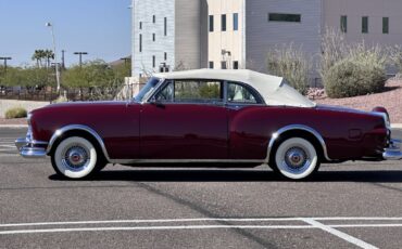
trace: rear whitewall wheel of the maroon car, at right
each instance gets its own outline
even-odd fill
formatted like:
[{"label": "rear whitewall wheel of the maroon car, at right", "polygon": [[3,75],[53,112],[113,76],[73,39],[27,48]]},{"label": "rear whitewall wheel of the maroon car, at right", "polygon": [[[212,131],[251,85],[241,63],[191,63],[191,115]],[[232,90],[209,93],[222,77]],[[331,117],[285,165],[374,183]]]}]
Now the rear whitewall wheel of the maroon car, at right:
[{"label": "rear whitewall wheel of the maroon car, at right", "polygon": [[272,157],[273,168],[291,180],[306,179],[319,167],[319,158],[314,145],[302,137],[282,141]]}]

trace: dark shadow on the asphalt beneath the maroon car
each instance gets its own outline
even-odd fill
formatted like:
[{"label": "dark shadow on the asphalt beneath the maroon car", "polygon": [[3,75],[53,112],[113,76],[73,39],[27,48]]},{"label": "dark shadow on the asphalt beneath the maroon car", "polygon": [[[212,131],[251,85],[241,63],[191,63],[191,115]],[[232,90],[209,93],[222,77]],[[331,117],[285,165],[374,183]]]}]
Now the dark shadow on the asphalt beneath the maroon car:
[{"label": "dark shadow on the asphalt beneath the maroon car", "polygon": [[[56,174],[52,181],[66,181]],[[70,180],[76,181],[76,180]],[[133,169],[104,170],[90,179],[79,181],[135,181],[135,182],[292,182],[271,170],[241,169]],[[318,171],[313,178],[302,182],[368,182],[402,183],[402,170],[367,171]]]}]

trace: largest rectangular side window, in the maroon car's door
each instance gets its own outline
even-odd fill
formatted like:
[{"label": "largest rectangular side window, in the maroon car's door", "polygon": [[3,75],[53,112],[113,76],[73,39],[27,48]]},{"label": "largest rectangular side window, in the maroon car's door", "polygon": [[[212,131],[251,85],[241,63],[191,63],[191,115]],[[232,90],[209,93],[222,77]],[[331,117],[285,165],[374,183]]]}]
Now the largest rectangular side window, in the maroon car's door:
[{"label": "largest rectangular side window, in the maroon car's door", "polygon": [[222,82],[216,80],[175,80],[175,102],[222,102]]}]

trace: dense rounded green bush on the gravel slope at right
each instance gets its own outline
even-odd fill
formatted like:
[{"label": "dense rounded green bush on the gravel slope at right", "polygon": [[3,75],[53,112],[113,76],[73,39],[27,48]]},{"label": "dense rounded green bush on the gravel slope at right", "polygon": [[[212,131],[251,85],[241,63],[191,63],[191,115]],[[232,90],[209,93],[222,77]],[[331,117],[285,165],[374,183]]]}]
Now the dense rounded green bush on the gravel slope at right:
[{"label": "dense rounded green bush on the gravel slope at right", "polygon": [[325,78],[325,91],[329,97],[350,97],[384,90],[384,65],[363,57],[348,57],[329,68]]}]

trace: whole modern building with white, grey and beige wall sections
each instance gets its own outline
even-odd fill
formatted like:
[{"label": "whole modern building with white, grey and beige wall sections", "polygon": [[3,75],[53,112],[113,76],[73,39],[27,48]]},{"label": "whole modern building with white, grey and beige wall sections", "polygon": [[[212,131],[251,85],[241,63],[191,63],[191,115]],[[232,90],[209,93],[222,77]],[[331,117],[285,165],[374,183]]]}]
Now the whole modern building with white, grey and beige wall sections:
[{"label": "whole modern building with white, grey and beige wall sections", "polygon": [[[314,58],[326,27],[350,41],[402,44],[401,0],[134,0],[133,75],[184,68],[266,71],[275,45]],[[166,23],[165,23],[166,22]]]}]

